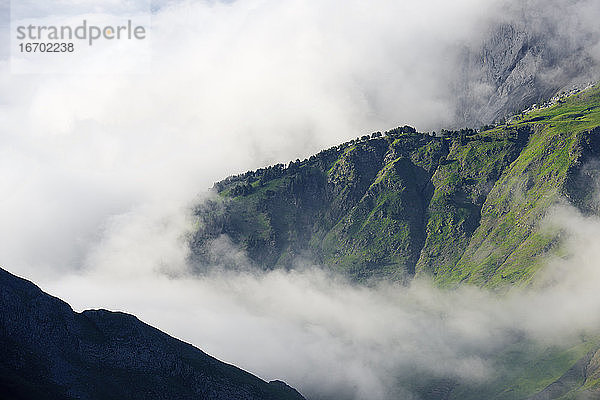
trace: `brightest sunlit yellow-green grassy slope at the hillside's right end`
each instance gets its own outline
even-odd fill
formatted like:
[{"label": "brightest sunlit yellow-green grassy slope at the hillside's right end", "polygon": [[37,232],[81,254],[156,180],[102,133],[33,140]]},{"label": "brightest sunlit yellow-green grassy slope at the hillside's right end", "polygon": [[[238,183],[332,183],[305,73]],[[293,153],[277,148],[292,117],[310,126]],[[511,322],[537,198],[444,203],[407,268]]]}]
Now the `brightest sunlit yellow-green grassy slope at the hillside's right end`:
[{"label": "brightest sunlit yellow-green grassy slope at the hillside's right end", "polygon": [[600,150],[586,146],[598,136],[590,133],[598,126],[596,88],[496,129],[502,133],[530,127],[533,134],[487,197],[480,225],[456,267],[446,269],[439,280],[489,286],[529,281],[557,243],[555,233],[540,230],[538,224],[568,194],[569,179],[578,173],[586,153]]}]

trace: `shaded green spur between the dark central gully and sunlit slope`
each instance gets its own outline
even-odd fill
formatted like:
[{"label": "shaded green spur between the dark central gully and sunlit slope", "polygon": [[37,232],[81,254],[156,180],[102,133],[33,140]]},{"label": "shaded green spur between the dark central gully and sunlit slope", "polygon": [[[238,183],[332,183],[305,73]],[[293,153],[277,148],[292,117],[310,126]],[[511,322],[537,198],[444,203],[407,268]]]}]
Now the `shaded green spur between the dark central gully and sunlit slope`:
[{"label": "shaded green spur between the dark central gully and sunlit slope", "polygon": [[500,135],[478,135],[465,144],[452,144],[432,178],[435,191],[427,210],[419,273],[443,276],[456,265],[479,224],[490,189],[521,146]]}]

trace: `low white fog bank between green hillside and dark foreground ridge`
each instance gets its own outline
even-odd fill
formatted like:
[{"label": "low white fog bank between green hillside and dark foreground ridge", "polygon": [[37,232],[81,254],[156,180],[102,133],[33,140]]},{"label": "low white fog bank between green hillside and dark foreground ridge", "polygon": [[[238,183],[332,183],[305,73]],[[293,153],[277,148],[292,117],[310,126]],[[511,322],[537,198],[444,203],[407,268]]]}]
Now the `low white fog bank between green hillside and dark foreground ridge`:
[{"label": "low white fog bank between green hillside and dark foreground ridge", "polygon": [[[165,245],[168,238],[153,240],[148,229],[121,231],[96,254],[110,255],[95,258],[96,269],[47,288],[76,309],[126,309],[264,379],[284,379],[309,398],[413,398],[416,377],[488,382],[500,372],[494,352],[517,340],[567,348],[600,332],[600,219],[561,205],[543,225],[563,231],[572,256],[549,259],[533,288],[505,294],[441,290],[425,280],[361,286],[308,264],[197,276],[186,272],[185,260],[168,258],[178,253]],[[160,248],[142,244],[120,253],[134,237]],[[135,266],[120,264],[124,258]]]}]

